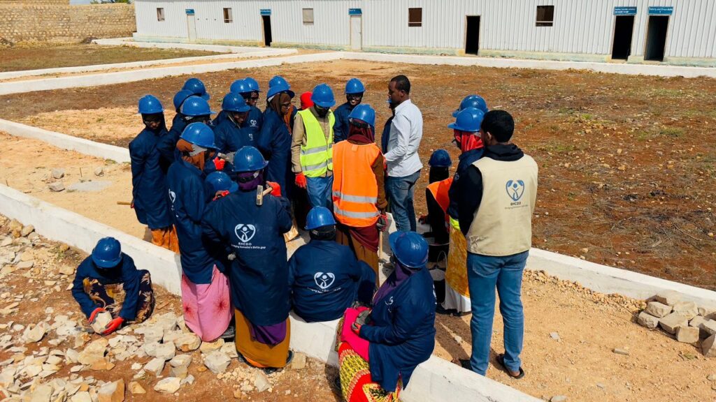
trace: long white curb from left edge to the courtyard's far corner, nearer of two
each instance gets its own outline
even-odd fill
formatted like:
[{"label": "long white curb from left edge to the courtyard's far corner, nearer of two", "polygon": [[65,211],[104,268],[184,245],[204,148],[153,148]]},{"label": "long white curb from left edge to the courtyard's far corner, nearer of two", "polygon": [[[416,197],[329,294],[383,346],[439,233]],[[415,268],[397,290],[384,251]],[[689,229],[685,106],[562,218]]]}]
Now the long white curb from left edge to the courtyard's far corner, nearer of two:
[{"label": "long white curb from left edge to the courtyard's far corner, nearer of two", "polygon": [[144,81],[145,79],[156,79],[175,75],[203,74],[207,72],[220,72],[228,69],[251,69],[258,67],[279,66],[284,63],[294,64],[321,62],[326,60],[337,60],[340,58],[340,53],[300,54],[297,56],[276,57],[274,59],[242,60],[241,62],[195,64],[192,66],[158,67],[137,71],[106,72],[100,74],[53,77],[45,79],[27,79],[16,82],[1,82],[0,95],[47,91],[51,89],[97,87],[100,85]]}]

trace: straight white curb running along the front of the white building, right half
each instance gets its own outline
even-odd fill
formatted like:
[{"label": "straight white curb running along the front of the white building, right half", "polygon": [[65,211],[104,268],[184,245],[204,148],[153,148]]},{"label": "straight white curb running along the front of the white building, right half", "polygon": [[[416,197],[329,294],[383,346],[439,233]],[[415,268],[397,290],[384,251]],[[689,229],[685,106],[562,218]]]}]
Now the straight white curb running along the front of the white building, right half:
[{"label": "straight white curb running along the front of the white building, right half", "polygon": [[386,54],[342,52],[344,59],[365,60],[369,62],[394,62],[410,64],[440,64],[453,66],[479,66],[519,69],[584,69],[592,72],[604,72],[627,75],[654,75],[659,77],[716,77],[716,69],[709,67],[682,67],[657,64],[621,64],[598,62],[559,62],[532,59],[499,59],[492,57],[455,57],[422,56],[416,54]]}]

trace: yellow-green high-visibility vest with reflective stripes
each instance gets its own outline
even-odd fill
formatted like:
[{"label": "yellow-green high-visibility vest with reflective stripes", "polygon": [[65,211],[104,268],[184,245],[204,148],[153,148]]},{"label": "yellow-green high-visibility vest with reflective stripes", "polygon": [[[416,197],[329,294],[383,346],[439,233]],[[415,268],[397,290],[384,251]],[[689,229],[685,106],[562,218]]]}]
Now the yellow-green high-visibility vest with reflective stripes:
[{"label": "yellow-green high-visibility vest with reflective stripes", "polygon": [[328,112],[330,126],[329,137],[314,116],[311,109],[301,110],[306,129],[306,144],[301,144],[301,170],[306,177],[321,177],[333,170],[333,124],[336,122],[333,112]]}]

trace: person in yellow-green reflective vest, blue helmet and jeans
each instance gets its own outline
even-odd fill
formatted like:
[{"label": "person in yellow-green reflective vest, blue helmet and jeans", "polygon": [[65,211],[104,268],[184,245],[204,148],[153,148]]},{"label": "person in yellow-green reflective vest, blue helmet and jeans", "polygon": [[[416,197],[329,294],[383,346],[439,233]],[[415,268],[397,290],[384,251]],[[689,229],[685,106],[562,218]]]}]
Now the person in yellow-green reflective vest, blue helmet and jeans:
[{"label": "person in yellow-green reflective vest, blue helmet and jeans", "polygon": [[314,105],[296,114],[291,133],[291,167],[296,185],[306,189],[311,207],[331,209],[333,184],[333,125],[336,104],[331,87],[319,84],[311,94]]}]

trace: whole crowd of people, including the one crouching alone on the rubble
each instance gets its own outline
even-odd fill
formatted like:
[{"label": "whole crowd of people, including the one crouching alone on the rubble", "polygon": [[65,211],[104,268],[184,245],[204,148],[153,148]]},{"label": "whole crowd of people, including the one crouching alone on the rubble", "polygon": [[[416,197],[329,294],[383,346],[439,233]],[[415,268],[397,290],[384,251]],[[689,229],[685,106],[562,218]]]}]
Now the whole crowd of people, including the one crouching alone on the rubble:
[{"label": "whole crowd of people, including the one crouching alone on the rubble", "polygon": [[[334,93],[319,84],[301,95],[299,110],[289,82],[276,76],[261,112],[261,89],[247,77],[231,84],[212,120],[209,94],[191,78],[173,98],[170,129],[159,99],[139,100],[145,129],[130,143],[132,207],[155,245],[180,254],[187,327],[204,341],[235,339],[241,361],[270,373],[292,358],[289,311],[306,322],[341,318],[344,398],[396,401],[432,353],[436,310],[472,310],[466,367],[485,374],[496,287],[505,318],[498,363],[523,376],[520,287],[537,166],[511,144],[512,117],[467,97],[449,126],[462,152],[454,177],[448,152],[430,158],[425,219],[433,245],[450,244],[445,300],[436,308],[427,270],[432,245],[416,232],[413,206],[422,114],[410,100],[410,80],[391,79],[392,117],[378,146],[364,92],[350,79],[347,102],[332,111]],[[389,205],[394,270],[381,283]],[[288,233],[298,222],[311,241],[289,260]],[[82,262],[72,293],[90,322],[102,310],[112,313],[104,334],[145,320],[154,305],[149,273],[112,238]]]}]

